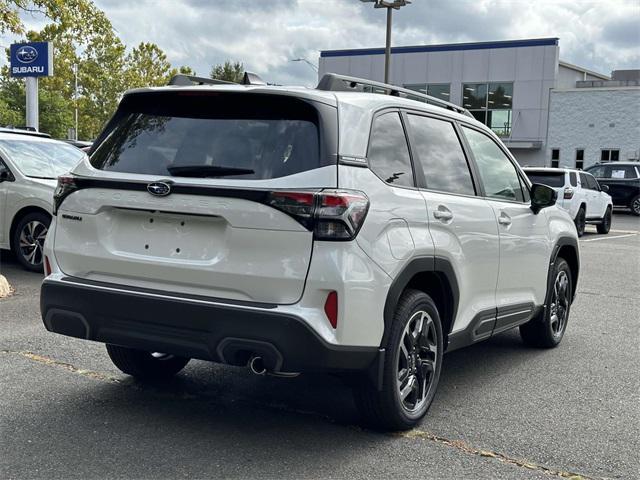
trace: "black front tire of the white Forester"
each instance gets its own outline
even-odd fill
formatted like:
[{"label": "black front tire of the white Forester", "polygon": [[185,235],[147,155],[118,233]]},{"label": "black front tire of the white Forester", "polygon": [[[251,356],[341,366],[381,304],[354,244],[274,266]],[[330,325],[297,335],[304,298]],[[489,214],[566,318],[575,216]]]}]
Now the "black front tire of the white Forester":
[{"label": "black front tire of the white Forester", "polygon": [[[573,299],[573,283],[571,279],[571,267],[564,258],[559,257],[552,271],[552,284],[549,292],[547,292],[547,298],[545,305],[547,307],[533,320],[520,326],[520,336],[523,342],[530,347],[537,348],[554,348],[557,347],[562,338],[564,332],[567,329],[567,323],[569,321],[569,314],[571,312],[571,301]],[[566,278],[566,291],[565,301],[555,301],[554,295],[557,288],[556,282],[558,278]],[[556,315],[554,321],[554,313],[559,313],[558,305],[562,305],[563,318],[558,318]],[[560,322],[560,323],[558,323]]]}]

